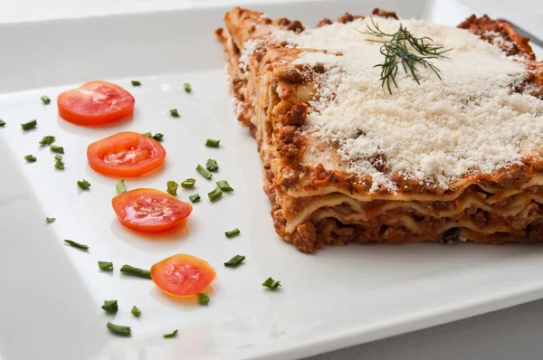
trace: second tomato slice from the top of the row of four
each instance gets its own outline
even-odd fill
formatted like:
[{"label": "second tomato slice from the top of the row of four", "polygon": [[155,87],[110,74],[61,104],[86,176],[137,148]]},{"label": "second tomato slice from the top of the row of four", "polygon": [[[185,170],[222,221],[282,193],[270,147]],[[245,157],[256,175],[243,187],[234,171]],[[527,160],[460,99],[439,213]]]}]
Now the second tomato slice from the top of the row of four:
[{"label": "second tomato slice from the top of the row of four", "polygon": [[166,150],[151,137],[124,131],[87,147],[89,166],[103,175],[132,177],[147,174],[164,164]]}]

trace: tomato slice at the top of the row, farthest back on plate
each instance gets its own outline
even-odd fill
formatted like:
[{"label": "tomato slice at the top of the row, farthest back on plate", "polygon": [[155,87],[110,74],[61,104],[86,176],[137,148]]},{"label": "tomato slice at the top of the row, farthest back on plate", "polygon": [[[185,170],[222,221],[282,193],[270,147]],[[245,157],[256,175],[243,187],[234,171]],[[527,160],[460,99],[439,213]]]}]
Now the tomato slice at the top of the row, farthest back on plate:
[{"label": "tomato slice at the top of the row, farthest back on plate", "polygon": [[61,118],[78,125],[102,125],[126,118],[134,112],[129,91],[106,81],[90,81],[62,92],[57,99]]}]

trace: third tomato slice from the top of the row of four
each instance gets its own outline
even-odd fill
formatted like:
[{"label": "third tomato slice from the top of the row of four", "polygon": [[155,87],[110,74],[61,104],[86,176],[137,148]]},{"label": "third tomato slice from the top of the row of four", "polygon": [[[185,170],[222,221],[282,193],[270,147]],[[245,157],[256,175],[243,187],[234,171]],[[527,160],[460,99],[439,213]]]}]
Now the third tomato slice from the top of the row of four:
[{"label": "third tomato slice from the top of the row of four", "polygon": [[192,205],[156,189],[135,189],[111,200],[119,222],[137,232],[166,232],[183,223]]}]

